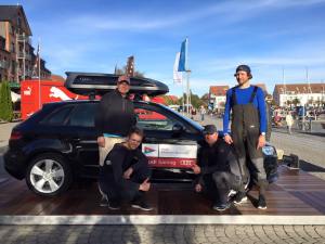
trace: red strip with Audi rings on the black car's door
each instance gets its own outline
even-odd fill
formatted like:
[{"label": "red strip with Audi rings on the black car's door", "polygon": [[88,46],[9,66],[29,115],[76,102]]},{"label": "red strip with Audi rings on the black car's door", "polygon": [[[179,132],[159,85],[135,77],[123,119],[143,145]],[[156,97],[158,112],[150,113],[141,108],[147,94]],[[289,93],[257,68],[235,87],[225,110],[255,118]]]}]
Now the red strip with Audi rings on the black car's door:
[{"label": "red strip with Audi rings on the black car's door", "polygon": [[148,157],[148,164],[157,168],[191,168],[196,164],[196,158]]}]

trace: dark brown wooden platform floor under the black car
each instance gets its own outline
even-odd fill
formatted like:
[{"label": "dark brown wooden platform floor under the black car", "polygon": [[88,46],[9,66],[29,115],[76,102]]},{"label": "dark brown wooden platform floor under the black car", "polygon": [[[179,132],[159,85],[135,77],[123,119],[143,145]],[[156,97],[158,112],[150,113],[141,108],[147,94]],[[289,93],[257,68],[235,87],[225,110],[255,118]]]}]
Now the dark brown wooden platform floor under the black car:
[{"label": "dark brown wooden platform floor under the black car", "polygon": [[266,191],[268,209],[255,207],[257,191],[249,192],[249,201],[225,211],[211,209],[212,203],[191,188],[154,185],[147,194],[152,211],[123,205],[120,210],[100,207],[96,183],[74,185],[67,193],[41,197],[31,193],[25,181],[9,179],[0,183],[0,216],[107,216],[107,215],[265,215],[265,216],[323,216],[325,214],[325,183],[297,169],[280,167],[280,179]]}]

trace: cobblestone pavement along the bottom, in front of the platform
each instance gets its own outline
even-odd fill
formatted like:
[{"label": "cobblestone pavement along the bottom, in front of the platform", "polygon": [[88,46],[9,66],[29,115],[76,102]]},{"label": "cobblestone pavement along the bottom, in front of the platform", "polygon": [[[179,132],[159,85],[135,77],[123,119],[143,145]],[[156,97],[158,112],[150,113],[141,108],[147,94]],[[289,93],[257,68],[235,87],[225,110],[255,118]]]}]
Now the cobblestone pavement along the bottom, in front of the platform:
[{"label": "cobblestone pavement along the bottom, in front of the platform", "polygon": [[1,243],[325,243],[325,226],[5,226]]}]

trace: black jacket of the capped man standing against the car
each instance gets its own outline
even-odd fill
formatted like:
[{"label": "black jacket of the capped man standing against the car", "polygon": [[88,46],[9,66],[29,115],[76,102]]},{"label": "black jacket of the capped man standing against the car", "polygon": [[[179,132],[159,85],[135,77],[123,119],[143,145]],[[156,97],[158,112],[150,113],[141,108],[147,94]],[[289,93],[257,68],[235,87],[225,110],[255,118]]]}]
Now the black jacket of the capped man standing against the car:
[{"label": "black jacket of the capped man standing against the car", "polygon": [[135,123],[134,106],[131,101],[125,99],[118,90],[103,95],[95,116],[99,137],[103,133],[126,137]]}]

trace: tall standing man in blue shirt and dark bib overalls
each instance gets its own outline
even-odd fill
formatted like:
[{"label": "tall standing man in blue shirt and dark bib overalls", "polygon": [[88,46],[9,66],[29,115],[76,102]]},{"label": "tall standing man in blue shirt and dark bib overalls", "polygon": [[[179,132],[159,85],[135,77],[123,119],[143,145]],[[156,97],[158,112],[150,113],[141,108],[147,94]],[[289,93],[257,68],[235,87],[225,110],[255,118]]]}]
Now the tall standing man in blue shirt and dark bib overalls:
[{"label": "tall standing man in blue shirt and dark bib overalls", "polygon": [[[234,75],[238,86],[226,92],[223,116],[224,141],[234,143],[242,171],[246,167],[247,155],[256,168],[255,183],[259,187],[258,208],[266,208],[268,187],[262,147],[265,145],[266,112],[264,93],[261,88],[250,86],[252,78],[249,66],[239,65]],[[232,114],[231,134],[229,133],[230,112]],[[242,197],[246,197],[243,195]]]}]

